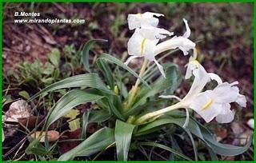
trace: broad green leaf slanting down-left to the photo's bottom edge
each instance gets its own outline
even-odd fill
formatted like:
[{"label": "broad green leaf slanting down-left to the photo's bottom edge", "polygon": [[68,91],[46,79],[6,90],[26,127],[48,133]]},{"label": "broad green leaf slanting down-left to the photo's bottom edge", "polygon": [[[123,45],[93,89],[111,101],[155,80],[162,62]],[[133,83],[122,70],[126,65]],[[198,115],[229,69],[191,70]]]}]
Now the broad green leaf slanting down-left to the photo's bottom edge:
[{"label": "broad green leaf slanting down-left to the photo's bottom edge", "polygon": [[58,158],[58,161],[72,160],[74,157],[85,157],[90,156],[94,153],[106,149],[109,145],[114,143],[114,129],[103,128],[99,129],[97,132],[93,133],[81,144],[74,147],[70,151],[62,154]]}]

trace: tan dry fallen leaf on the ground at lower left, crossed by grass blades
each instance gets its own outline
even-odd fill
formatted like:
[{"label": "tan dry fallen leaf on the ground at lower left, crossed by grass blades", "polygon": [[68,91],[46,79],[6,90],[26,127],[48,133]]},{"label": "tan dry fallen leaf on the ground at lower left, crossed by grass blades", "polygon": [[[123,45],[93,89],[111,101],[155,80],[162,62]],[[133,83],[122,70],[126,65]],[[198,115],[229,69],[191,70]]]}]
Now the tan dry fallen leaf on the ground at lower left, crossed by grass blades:
[{"label": "tan dry fallen leaf on the ground at lower left, crossed by grass blades", "polygon": [[[40,131],[37,131],[35,133],[31,133],[30,137],[38,138],[39,135],[40,135]],[[45,135],[46,135],[46,132],[42,132],[42,137],[40,139],[40,142],[45,142]],[[58,140],[60,135],[59,135],[58,131],[50,130],[47,132],[47,137],[48,137],[49,142],[54,142],[54,141]]]}]

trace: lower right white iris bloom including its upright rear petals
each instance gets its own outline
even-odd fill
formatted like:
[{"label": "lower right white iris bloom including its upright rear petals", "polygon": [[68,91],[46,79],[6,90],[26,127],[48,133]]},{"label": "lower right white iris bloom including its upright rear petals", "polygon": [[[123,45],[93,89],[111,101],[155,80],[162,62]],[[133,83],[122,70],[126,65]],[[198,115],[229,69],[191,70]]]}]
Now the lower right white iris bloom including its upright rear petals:
[{"label": "lower right white iris bloom including its upright rear petals", "polygon": [[[207,73],[202,65],[196,60],[191,60],[187,66],[186,77],[194,74],[194,82],[189,93],[182,99],[186,108],[194,109],[206,122],[216,117],[219,123],[229,123],[234,119],[234,110],[230,110],[230,103],[246,107],[246,97],[239,93],[238,81],[233,83],[222,82],[217,74]],[[206,83],[215,80],[218,85],[213,90],[202,92]]]}]

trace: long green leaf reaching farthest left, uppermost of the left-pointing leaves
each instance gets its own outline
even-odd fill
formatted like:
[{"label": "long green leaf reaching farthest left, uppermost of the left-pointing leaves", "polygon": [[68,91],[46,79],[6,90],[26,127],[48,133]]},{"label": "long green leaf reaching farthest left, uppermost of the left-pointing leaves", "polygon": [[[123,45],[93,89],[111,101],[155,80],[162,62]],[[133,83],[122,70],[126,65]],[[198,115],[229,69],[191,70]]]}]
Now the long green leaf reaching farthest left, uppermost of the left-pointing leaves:
[{"label": "long green leaf reaching farthest left, uppermost of the left-pointing leaves", "polygon": [[47,86],[45,89],[42,89],[40,92],[34,94],[34,96],[30,98],[30,101],[43,93],[54,91],[56,89],[74,88],[81,86],[96,88],[106,93],[114,94],[112,91],[110,91],[110,89],[106,87],[101,78],[98,77],[98,74],[81,74],[63,79],[62,81],[58,81],[52,85]]}]

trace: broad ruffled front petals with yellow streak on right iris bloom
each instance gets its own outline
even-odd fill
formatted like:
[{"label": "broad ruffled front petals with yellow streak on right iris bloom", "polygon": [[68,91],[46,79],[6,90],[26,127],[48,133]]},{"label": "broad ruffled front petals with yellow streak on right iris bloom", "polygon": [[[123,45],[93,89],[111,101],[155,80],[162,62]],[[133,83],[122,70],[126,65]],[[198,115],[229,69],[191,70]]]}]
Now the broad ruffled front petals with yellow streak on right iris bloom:
[{"label": "broad ruffled front petals with yellow streak on right iris bloom", "polygon": [[229,123],[234,119],[234,110],[230,109],[231,102],[246,107],[246,97],[239,93],[238,81],[233,83],[224,82],[213,90],[206,90],[200,93],[190,103],[190,108],[194,109],[206,122],[210,122],[216,117],[219,123]]}]

